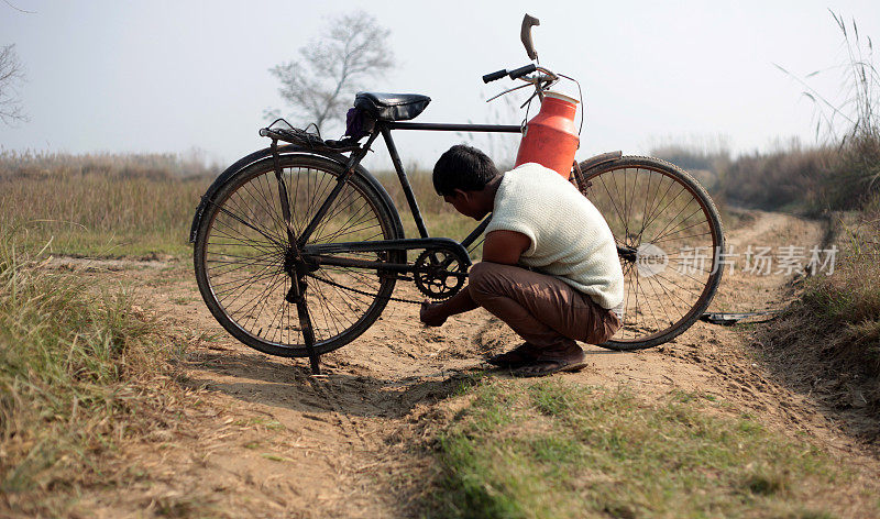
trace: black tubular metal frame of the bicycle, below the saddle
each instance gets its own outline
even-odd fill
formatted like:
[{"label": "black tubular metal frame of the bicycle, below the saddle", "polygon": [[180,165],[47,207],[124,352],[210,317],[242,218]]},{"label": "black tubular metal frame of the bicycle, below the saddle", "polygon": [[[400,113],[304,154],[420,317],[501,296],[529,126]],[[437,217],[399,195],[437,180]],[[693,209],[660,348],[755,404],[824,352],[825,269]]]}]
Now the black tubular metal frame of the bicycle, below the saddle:
[{"label": "black tubular metal frame of the bicycle, below the saddle", "polygon": [[[397,178],[400,181],[400,187],[404,189],[404,196],[406,197],[406,201],[409,205],[409,209],[413,212],[413,219],[416,222],[416,228],[419,231],[420,241],[418,246],[428,246],[430,245],[431,238],[428,235],[428,228],[425,227],[425,220],[421,218],[421,210],[419,210],[418,201],[416,200],[416,195],[413,192],[413,186],[409,184],[409,178],[404,170],[404,164],[400,161],[400,155],[397,153],[397,146],[394,144],[394,139],[392,137],[392,130],[419,130],[419,131],[436,131],[436,132],[480,132],[480,133],[520,133],[522,131],[521,126],[513,125],[513,124],[449,124],[449,123],[419,123],[419,122],[403,122],[403,121],[377,121],[373,132],[370,134],[370,139],[363,145],[363,147],[355,150],[352,152],[351,157],[349,158],[348,164],[345,165],[345,173],[339,177],[337,180],[337,185],[327,199],[323,201],[321,207],[318,209],[318,212],[315,213],[311,221],[302,233],[297,236],[296,245],[298,250],[301,250],[306,246],[309,238],[311,238],[311,233],[318,227],[321,219],[327,214],[327,211],[330,210],[330,206],[332,206],[333,201],[336,201],[337,197],[342,192],[345,183],[348,181],[349,177],[354,173],[354,168],[358,167],[358,164],[361,163],[364,156],[366,156],[366,152],[370,150],[370,146],[373,142],[382,135],[385,140],[385,146],[388,148],[388,154],[392,157],[392,163],[394,164],[394,170],[397,173]],[[474,229],[460,244],[468,249],[472,243],[476,241],[477,238],[483,233],[488,225],[490,217],[483,219],[482,222]],[[413,240],[418,239],[403,239],[403,240],[387,240],[384,243],[387,245],[400,246],[404,249],[409,249],[407,245],[416,245],[415,243],[410,243]],[[398,243],[399,242],[399,243]],[[442,242],[438,242],[438,246],[448,246],[449,242],[443,240]]]}]

